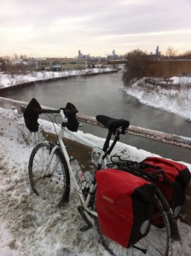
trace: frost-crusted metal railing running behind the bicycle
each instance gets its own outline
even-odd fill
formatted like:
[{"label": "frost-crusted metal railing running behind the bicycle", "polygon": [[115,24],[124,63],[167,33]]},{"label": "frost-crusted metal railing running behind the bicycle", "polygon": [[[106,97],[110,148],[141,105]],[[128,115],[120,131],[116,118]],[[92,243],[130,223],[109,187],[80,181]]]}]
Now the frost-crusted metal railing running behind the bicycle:
[{"label": "frost-crusted metal railing running behind the bicycle", "polygon": [[[19,102],[19,101],[15,101],[15,100],[3,98],[3,97],[0,97],[0,102],[4,102],[11,107],[17,108],[18,113],[23,113],[24,109],[28,104],[28,102]],[[44,106],[42,107],[47,109],[53,109],[53,108],[48,108]],[[83,114],[77,114],[77,119],[83,123],[87,123],[90,125],[99,125],[102,127],[102,125],[96,121],[95,117],[90,117]],[[191,137],[183,137],[183,136],[178,136],[175,134],[170,134],[162,131],[154,131],[154,130],[150,130],[150,129],[146,129],[146,128],[142,128],[134,125],[130,125],[127,133],[138,136],[138,137],[152,139],[160,143],[168,143],[168,144],[179,146],[182,148],[191,149]]]}]

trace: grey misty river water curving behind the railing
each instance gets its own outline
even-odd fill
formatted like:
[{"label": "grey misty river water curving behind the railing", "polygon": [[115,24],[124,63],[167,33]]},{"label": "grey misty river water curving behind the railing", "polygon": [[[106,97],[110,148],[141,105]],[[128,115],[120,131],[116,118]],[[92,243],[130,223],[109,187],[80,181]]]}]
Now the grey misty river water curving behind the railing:
[{"label": "grey misty river water curving behind the railing", "polygon": [[[65,107],[67,102],[72,102],[81,114],[106,114],[113,118],[128,119],[130,125],[191,137],[191,122],[176,114],[142,105],[136,98],[121,90],[122,86],[122,73],[111,73],[37,83],[31,87],[3,93],[1,96],[24,102],[35,97],[41,105],[52,108]],[[84,132],[99,137],[106,136],[105,129],[83,125],[80,130]],[[131,135],[121,136],[120,141],[172,160],[191,163],[191,152],[185,148]]]}]

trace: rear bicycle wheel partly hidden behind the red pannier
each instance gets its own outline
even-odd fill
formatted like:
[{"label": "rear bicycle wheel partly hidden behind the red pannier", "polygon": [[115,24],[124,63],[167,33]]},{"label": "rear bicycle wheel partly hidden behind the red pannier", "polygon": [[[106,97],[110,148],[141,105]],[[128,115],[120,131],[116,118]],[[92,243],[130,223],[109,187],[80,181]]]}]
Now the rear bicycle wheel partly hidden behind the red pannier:
[{"label": "rear bicycle wheel partly hidden behind the red pannier", "polygon": [[[96,195],[96,193],[95,193]],[[96,211],[96,196],[94,195],[92,208]],[[116,256],[124,256],[124,255],[149,255],[149,256],[167,256],[169,253],[170,247],[170,224],[167,217],[167,213],[165,212],[165,208],[163,207],[162,202],[159,200],[159,196],[157,194],[154,195],[155,198],[155,207],[158,212],[158,217],[163,219],[163,226],[158,227],[155,223],[151,224],[148,235],[143,237],[140,241],[136,242],[135,247],[122,247],[117,242],[112,241],[107,236],[101,234],[101,230],[99,227],[99,220],[95,217],[95,224],[98,234],[101,238],[101,244],[105,249],[111,254]],[[153,216],[155,218],[156,216]],[[147,250],[147,253],[143,253],[140,249]]]}]

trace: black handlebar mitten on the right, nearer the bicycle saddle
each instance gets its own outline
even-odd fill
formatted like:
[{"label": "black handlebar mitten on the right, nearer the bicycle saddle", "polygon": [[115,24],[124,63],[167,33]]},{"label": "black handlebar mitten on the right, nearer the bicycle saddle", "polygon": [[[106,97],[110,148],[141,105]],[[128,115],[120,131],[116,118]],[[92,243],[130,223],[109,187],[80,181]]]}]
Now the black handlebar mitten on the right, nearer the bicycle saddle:
[{"label": "black handlebar mitten on the right, nearer the bicycle saddle", "polygon": [[67,102],[64,114],[67,117],[67,129],[70,131],[78,131],[79,123],[76,119],[76,113],[78,113],[76,107],[72,103]]}]

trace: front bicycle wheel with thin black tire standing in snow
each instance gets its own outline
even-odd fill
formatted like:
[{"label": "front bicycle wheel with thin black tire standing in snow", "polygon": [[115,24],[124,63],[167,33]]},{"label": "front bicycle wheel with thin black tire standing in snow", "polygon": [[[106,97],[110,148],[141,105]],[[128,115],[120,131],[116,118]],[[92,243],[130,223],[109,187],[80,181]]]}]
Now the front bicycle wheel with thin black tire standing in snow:
[{"label": "front bicycle wheel with thin black tire standing in snow", "polygon": [[29,159],[28,174],[32,191],[36,195],[40,195],[44,200],[55,203],[61,207],[65,202],[69,201],[70,194],[70,175],[67,166],[67,160],[56,149],[53,159],[49,166],[49,170],[55,171],[52,174],[47,173],[42,177],[43,170],[47,166],[49,154],[54,147],[52,143],[38,143],[32,149]]}]

